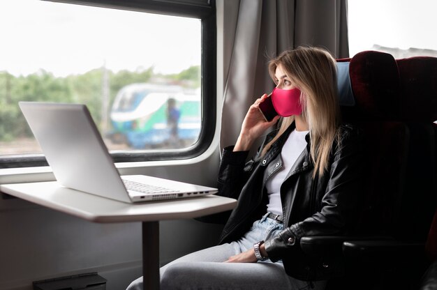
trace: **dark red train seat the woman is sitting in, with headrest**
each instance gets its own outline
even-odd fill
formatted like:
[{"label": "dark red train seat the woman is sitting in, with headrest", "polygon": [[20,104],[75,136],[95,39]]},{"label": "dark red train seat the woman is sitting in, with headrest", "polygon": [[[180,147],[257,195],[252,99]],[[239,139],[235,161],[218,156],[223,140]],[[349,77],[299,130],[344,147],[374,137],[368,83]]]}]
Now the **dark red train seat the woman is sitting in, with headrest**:
[{"label": "dark red train seat the woman is sitting in, with headrest", "polygon": [[[400,80],[397,62],[383,52],[360,52],[348,61],[355,104],[341,106],[343,120],[355,123],[364,132],[365,188],[360,201],[357,226],[347,236],[311,236],[301,239],[309,259],[323,261],[343,252],[345,274],[328,282],[327,289],[350,289],[366,270],[343,250],[347,241],[393,241],[399,218],[399,201],[406,174],[409,134],[400,121]],[[365,243],[365,242],[364,242]],[[352,259],[351,259],[352,258]],[[369,264],[366,264],[369,266]],[[374,274],[369,272],[369,274]],[[355,283],[354,283],[355,284]],[[363,284],[364,285],[364,284]],[[354,285],[355,287],[356,285]],[[364,289],[364,287],[363,287]]]}]

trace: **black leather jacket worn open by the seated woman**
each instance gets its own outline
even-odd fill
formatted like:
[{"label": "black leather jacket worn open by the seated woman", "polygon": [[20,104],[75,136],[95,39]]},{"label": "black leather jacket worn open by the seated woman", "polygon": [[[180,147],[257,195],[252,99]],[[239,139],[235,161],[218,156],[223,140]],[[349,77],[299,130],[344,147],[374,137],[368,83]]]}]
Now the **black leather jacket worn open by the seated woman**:
[{"label": "black leather jacket worn open by the seated woman", "polygon": [[[269,152],[246,162],[247,151],[223,150],[218,174],[218,194],[238,199],[223,228],[220,243],[236,241],[255,220],[266,213],[268,201],[265,190],[267,178],[281,168],[281,148],[290,128],[272,145]],[[267,135],[268,142],[276,132]],[[307,257],[300,247],[302,236],[348,234],[355,223],[357,200],[362,189],[362,138],[357,128],[341,126],[341,142],[332,146],[329,166],[322,177],[313,175],[313,162],[308,145],[297,158],[281,186],[284,229],[279,236],[265,241],[272,261],[282,259],[286,273],[299,280],[325,280],[341,273],[339,257],[321,261]],[[267,171],[267,172],[265,172]]]}]

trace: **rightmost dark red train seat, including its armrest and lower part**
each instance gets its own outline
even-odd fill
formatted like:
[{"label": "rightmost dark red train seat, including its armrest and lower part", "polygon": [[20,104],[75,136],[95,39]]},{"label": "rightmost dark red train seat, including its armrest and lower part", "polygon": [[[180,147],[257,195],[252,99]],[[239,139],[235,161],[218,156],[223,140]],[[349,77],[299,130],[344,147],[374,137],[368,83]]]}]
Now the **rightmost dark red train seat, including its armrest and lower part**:
[{"label": "rightmost dark red train seat, including its armrest and lower part", "polygon": [[[397,66],[400,91],[394,107],[397,114],[392,118],[408,128],[408,153],[404,190],[396,201],[397,218],[391,228],[394,240],[343,244],[345,256],[359,261],[360,271],[373,278],[371,284],[366,285],[367,289],[418,289],[420,276],[436,258],[426,260],[425,242],[428,252],[432,252],[433,247],[434,253],[437,252],[437,245],[431,242],[437,236],[437,229],[431,227],[437,198],[437,125],[434,123],[437,119],[437,59],[424,56],[398,59]],[[363,270],[366,267],[373,268],[369,272]],[[433,282],[429,275],[435,270],[434,261],[424,285]]]}]

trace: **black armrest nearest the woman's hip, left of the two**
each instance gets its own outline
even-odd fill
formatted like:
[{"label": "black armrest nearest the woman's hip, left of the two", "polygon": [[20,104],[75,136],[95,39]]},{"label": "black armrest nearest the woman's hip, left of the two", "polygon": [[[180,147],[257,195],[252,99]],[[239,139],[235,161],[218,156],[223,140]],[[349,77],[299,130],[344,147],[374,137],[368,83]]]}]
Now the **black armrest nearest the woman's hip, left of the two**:
[{"label": "black armrest nearest the woman's hip, left of the two", "polygon": [[304,236],[300,247],[305,254],[321,257],[326,254],[341,253],[346,241],[392,241],[391,236]]}]

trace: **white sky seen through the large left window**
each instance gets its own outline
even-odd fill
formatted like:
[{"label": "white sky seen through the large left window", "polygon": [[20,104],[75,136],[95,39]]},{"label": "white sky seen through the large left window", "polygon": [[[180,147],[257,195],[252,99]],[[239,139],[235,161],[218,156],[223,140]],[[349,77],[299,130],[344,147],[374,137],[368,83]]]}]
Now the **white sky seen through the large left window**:
[{"label": "white sky seen through the large left window", "polygon": [[[0,71],[179,73],[200,65],[200,20],[39,0],[0,1]],[[79,32],[78,32],[79,31]],[[193,33],[191,33],[191,31]]]}]

